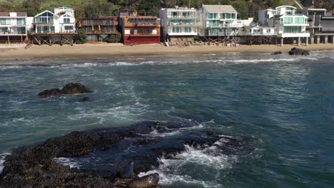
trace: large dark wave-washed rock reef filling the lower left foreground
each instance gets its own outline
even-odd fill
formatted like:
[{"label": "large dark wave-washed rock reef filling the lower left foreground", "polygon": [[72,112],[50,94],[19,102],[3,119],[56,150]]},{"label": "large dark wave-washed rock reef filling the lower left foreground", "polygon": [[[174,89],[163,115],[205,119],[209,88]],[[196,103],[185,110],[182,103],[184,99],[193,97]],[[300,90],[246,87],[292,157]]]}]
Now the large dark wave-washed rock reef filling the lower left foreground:
[{"label": "large dark wave-washed rock reef filling the lower left foreground", "polygon": [[[38,145],[19,147],[5,158],[0,187],[160,187],[158,174],[137,177],[138,174],[158,168],[158,158],[173,159],[186,150],[185,145],[198,150],[215,145],[221,155],[246,155],[253,151],[249,138],[191,129],[193,126],[184,122],[141,122],[71,132]],[[150,135],[152,131],[154,136]],[[74,160],[80,168],[66,166],[69,164],[59,162],[59,157]]]}]

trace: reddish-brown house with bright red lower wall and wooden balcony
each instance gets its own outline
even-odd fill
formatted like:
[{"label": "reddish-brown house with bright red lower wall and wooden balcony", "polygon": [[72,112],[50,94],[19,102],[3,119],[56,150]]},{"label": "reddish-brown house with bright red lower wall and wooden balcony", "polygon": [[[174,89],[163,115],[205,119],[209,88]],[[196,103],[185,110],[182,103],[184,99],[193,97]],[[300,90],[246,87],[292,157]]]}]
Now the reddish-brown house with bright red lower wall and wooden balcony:
[{"label": "reddish-brown house with bright red lower wall and wooden balcony", "polygon": [[160,19],[156,16],[138,16],[136,11],[120,10],[118,24],[124,45],[160,43]]}]

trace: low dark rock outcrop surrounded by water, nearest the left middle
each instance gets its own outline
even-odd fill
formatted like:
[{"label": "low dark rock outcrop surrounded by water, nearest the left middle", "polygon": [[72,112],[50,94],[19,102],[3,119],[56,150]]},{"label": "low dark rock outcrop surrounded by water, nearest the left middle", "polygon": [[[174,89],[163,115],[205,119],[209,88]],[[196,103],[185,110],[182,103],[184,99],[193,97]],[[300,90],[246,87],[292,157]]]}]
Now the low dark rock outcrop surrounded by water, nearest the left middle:
[{"label": "low dark rock outcrop surrounded by water, nearest the left middle", "polygon": [[56,95],[71,95],[75,93],[90,93],[91,90],[88,90],[81,83],[68,83],[64,86],[63,89],[53,88],[51,90],[44,90],[39,93],[41,97],[56,96]]}]

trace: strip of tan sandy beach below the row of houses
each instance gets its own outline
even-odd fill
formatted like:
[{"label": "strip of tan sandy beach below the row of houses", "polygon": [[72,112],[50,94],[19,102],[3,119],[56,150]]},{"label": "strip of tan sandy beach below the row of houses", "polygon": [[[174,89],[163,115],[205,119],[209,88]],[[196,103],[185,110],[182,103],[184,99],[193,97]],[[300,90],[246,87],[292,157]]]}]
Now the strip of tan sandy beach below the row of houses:
[{"label": "strip of tan sandy beach below the row of houses", "polygon": [[[287,53],[295,45],[242,45],[230,46],[186,46],[166,47],[161,45],[123,46],[121,44],[84,44],[74,46],[31,46],[28,49],[11,48],[0,49],[1,60],[22,60],[41,58],[96,58],[122,56],[175,56],[175,55],[202,55],[208,53],[246,52],[246,53],[273,53],[282,51]],[[308,51],[334,50],[334,44],[313,44],[299,46]]]}]

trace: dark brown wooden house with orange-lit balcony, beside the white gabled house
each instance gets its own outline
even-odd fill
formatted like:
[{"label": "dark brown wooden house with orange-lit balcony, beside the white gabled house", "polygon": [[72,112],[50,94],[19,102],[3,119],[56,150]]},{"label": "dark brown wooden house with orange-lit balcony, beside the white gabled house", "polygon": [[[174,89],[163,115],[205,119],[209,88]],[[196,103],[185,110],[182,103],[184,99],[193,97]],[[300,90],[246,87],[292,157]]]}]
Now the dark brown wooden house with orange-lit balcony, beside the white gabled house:
[{"label": "dark brown wooden house with orange-lit balcony, beside the white gabled house", "polygon": [[87,41],[106,41],[111,35],[116,35],[117,16],[80,19],[76,27],[83,29],[87,34]]}]

